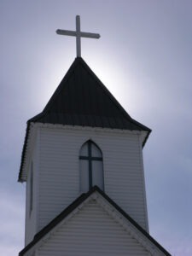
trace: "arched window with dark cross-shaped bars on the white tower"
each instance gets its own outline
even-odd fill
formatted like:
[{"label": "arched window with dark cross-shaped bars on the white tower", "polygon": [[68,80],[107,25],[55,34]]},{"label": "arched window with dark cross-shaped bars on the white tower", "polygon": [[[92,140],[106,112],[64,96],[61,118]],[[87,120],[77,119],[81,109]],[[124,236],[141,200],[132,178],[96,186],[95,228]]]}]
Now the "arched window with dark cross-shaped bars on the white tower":
[{"label": "arched window with dark cross-shaped bars on the white tower", "polygon": [[80,149],[80,191],[87,192],[97,185],[103,190],[102,150],[88,141]]}]

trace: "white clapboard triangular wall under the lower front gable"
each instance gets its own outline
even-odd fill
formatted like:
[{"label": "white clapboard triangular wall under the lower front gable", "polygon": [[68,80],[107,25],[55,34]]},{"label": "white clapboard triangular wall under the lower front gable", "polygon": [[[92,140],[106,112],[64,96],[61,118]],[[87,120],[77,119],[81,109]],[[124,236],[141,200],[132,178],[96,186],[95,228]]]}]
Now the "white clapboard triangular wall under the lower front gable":
[{"label": "white clapboard triangular wall under the lower front gable", "polygon": [[89,201],[78,213],[49,236],[38,248],[38,256],[151,255],[96,201]]}]

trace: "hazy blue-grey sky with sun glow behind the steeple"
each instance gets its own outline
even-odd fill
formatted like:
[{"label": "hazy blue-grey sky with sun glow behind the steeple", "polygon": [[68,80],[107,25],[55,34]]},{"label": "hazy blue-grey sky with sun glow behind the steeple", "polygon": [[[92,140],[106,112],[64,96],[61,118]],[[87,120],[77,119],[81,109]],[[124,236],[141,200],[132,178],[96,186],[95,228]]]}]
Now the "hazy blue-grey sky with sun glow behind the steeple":
[{"label": "hazy blue-grey sky with sun glow behind the steeple", "polygon": [[101,34],[82,39],[84,61],[153,130],[143,149],[150,234],[172,255],[192,255],[192,1],[0,0],[1,255],[24,247],[26,120],[76,56],[75,39],[55,33],[73,30],[75,15]]}]

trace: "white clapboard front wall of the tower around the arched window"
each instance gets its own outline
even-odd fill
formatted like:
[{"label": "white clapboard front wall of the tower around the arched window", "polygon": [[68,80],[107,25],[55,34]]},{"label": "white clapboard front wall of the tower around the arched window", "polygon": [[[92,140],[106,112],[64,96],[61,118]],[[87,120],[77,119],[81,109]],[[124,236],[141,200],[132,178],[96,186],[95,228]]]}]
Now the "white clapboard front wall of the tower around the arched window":
[{"label": "white clapboard front wall of the tower around the arched window", "polygon": [[105,193],[148,230],[139,133],[75,127],[38,129],[38,230],[80,195],[79,150],[89,139],[102,149]]}]

